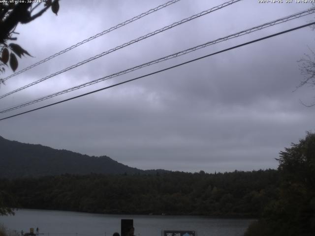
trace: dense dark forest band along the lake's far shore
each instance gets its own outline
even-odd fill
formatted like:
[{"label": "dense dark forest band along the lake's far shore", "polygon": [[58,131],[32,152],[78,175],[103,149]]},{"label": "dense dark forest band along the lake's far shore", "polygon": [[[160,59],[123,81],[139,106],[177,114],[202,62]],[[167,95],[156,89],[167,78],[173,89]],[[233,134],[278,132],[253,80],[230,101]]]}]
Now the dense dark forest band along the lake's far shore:
[{"label": "dense dark forest band along the lake's far shore", "polygon": [[1,179],[16,206],[98,213],[257,217],[279,196],[278,172],[62,175]]}]

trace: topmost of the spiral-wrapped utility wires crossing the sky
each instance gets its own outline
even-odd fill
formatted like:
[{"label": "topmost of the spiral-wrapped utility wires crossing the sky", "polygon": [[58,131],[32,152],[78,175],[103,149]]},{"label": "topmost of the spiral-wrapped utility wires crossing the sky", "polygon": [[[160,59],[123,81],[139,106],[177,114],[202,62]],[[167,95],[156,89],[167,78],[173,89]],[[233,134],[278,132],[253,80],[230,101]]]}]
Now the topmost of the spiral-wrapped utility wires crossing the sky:
[{"label": "topmost of the spiral-wrapped utility wires crossing the sky", "polygon": [[33,67],[35,67],[35,66],[37,66],[37,65],[40,65],[40,64],[42,64],[42,63],[44,63],[44,62],[46,62],[46,61],[48,61],[48,60],[50,60],[50,59],[53,59],[53,58],[55,58],[55,57],[60,56],[60,55],[62,55],[62,54],[64,54],[64,53],[66,53],[66,52],[68,52],[68,51],[70,51],[70,50],[72,50],[72,49],[74,49],[74,48],[76,48],[76,47],[78,47],[78,46],[84,44],[84,43],[87,43],[87,42],[89,42],[89,41],[91,41],[91,40],[93,40],[93,39],[95,39],[95,38],[97,38],[97,37],[99,37],[99,36],[102,36],[102,35],[104,35],[104,34],[106,34],[106,33],[109,33],[110,31],[113,31],[113,30],[118,29],[118,28],[120,28],[120,27],[126,26],[127,24],[129,24],[129,23],[131,23],[131,22],[134,22],[134,21],[136,21],[136,20],[139,20],[139,19],[142,18],[142,17],[145,17],[145,16],[147,16],[147,15],[149,15],[149,14],[151,14],[151,13],[154,13],[154,12],[156,12],[156,11],[158,11],[158,10],[164,8],[164,7],[167,7],[167,6],[169,6],[169,5],[173,4],[173,3],[176,3],[176,2],[178,2],[178,1],[180,1],[180,0],[171,0],[171,1],[168,1],[168,2],[166,2],[166,3],[162,4],[162,5],[159,5],[159,6],[153,8],[153,9],[151,9],[151,10],[149,10],[149,11],[146,11],[146,12],[144,12],[144,13],[141,13],[141,14],[138,15],[138,16],[132,17],[131,19],[126,20],[126,21],[123,22],[123,23],[120,23],[120,24],[118,24],[118,25],[116,25],[116,26],[113,26],[113,27],[111,27],[111,28],[109,28],[109,29],[105,29],[104,31],[102,31],[102,32],[100,32],[100,33],[97,33],[97,34],[95,34],[94,36],[91,36],[90,38],[87,38],[87,39],[85,39],[85,40],[83,40],[83,41],[81,41],[81,42],[79,42],[79,43],[76,43],[75,45],[72,45],[72,46],[70,46],[70,47],[68,47],[68,48],[66,48],[66,49],[63,49],[62,51],[60,51],[60,52],[58,52],[58,53],[55,53],[54,55],[49,56],[48,58],[42,59],[42,60],[40,60],[40,61],[38,61],[38,62],[36,62],[36,63],[34,63],[34,64],[32,64],[32,65],[30,65],[30,66],[24,68],[24,69],[22,69],[22,70],[20,70],[20,71],[15,72],[15,73],[12,74],[12,75],[9,75],[9,76],[5,77],[5,78],[2,79],[2,80],[3,80],[3,81],[6,81],[6,80],[8,80],[8,79],[10,79],[10,78],[12,78],[12,77],[18,75],[18,74],[21,74],[21,73],[23,73],[23,72],[25,72],[25,71],[27,71],[27,70],[29,70],[29,69],[32,69]]}]

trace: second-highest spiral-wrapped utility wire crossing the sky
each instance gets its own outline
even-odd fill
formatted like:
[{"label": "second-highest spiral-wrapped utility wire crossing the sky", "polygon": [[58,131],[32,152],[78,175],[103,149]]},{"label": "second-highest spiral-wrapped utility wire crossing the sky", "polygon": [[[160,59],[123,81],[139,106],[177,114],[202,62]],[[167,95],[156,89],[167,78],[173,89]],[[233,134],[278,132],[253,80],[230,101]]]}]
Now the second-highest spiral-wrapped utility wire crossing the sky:
[{"label": "second-highest spiral-wrapped utility wire crossing the sky", "polygon": [[71,65],[71,66],[69,66],[69,67],[67,67],[67,68],[65,68],[65,69],[63,69],[63,70],[60,70],[60,71],[58,71],[58,72],[55,72],[55,73],[53,73],[53,74],[51,74],[51,75],[49,75],[49,76],[46,76],[46,77],[44,77],[44,78],[42,78],[42,79],[40,79],[40,80],[37,80],[37,81],[35,81],[35,82],[32,82],[31,84],[28,84],[28,85],[26,85],[26,86],[23,86],[23,87],[21,87],[21,88],[19,88],[19,89],[15,89],[15,90],[13,90],[13,91],[11,91],[11,92],[8,92],[8,93],[6,93],[6,94],[4,94],[4,95],[1,95],[1,96],[0,96],[0,99],[3,98],[3,97],[6,97],[6,96],[8,96],[8,95],[10,95],[10,94],[12,94],[12,93],[21,91],[21,90],[23,90],[23,89],[26,89],[26,88],[31,87],[31,86],[33,86],[33,85],[36,85],[36,84],[38,84],[38,83],[40,83],[40,82],[43,82],[43,81],[45,81],[45,80],[47,80],[47,79],[49,79],[49,78],[51,78],[51,77],[53,77],[53,76],[56,76],[56,75],[59,75],[59,74],[63,73],[63,72],[65,72],[65,71],[68,71],[68,70],[71,70],[71,69],[73,69],[73,68],[75,68],[75,67],[78,67],[78,66],[80,66],[80,65],[83,65],[83,64],[85,64],[85,63],[87,63],[87,62],[90,62],[91,60],[94,60],[94,59],[98,59],[98,58],[100,58],[100,57],[103,57],[103,56],[105,56],[105,55],[107,55],[107,54],[109,54],[109,53],[112,53],[112,52],[116,51],[116,50],[119,50],[119,49],[121,49],[121,48],[124,48],[124,47],[126,47],[126,46],[129,46],[129,45],[131,45],[131,44],[133,44],[133,43],[139,42],[139,41],[141,41],[141,40],[143,40],[143,39],[145,39],[145,38],[151,37],[151,36],[153,36],[153,35],[155,35],[155,34],[158,34],[158,33],[160,33],[160,32],[163,32],[163,31],[165,31],[165,30],[167,30],[167,29],[171,29],[171,28],[176,27],[176,26],[179,26],[179,25],[181,25],[181,24],[183,24],[183,23],[189,22],[189,21],[191,21],[191,20],[193,20],[193,19],[195,19],[195,18],[198,18],[198,17],[200,17],[200,16],[204,16],[204,15],[206,15],[206,14],[209,14],[209,13],[213,12],[213,11],[219,10],[219,9],[225,7],[225,6],[231,5],[231,4],[233,4],[233,3],[235,3],[235,2],[238,2],[238,1],[241,1],[241,0],[230,0],[230,1],[228,1],[228,2],[225,2],[225,3],[221,4],[221,5],[215,6],[215,7],[211,8],[211,9],[206,10],[206,11],[202,11],[202,12],[200,12],[200,13],[198,13],[198,14],[195,14],[195,15],[193,15],[193,16],[190,16],[190,17],[188,17],[188,18],[185,18],[185,19],[183,19],[183,20],[181,20],[181,21],[175,22],[175,23],[173,23],[173,24],[171,24],[171,25],[169,25],[169,26],[165,26],[165,27],[163,27],[163,28],[161,28],[161,29],[158,29],[158,30],[156,30],[156,31],[154,31],[154,32],[151,32],[151,33],[148,33],[148,34],[146,34],[146,35],[144,35],[144,36],[141,36],[141,37],[139,37],[139,38],[133,39],[133,40],[127,42],[127,43],[124,43],[124,44],[122,44],[122,45],[120,45],[120,46],[117,46],[116,48],[112,48],[112,49],[110,49],[110,50],[108,50],[108,51],[106,51],[106,52],[103,52],[103,53],[101,53],[101,54],[98,54],[98,55],[96,55],[96,56],[94,56],[94,57],[92,57],[92,58],[90,58],[90,59],[83,60],[83,61],[81,61],[81,62],[79,62],[79,63],[77,63],[77,64]]}]

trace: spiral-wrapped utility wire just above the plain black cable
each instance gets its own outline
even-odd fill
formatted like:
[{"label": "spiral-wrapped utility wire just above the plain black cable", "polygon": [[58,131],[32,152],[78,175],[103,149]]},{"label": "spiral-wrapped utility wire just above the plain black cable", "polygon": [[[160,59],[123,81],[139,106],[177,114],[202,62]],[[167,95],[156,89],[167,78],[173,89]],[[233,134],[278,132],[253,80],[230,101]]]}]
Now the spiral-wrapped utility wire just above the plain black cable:
[{"label": "spiral-wrapped utility wire just above the plain black cable", "polygon": [[239,36],[242,36],[244,34],[249,34],[251,32],[254,32],[254,31],[257,31],[257,30],[260,30],[260,29],[265,29],[267,27],[271,27],[271,26],[274,26],[274,25],[277,25],[277,24],[280,24],[280,23],[284,23],[284,22],[287,22],[289,20],[297,19],[299,17],[306,16],[306,15],[312,14],[314,12],[315,12],[315,8],[312,8],[312,9],[307,9],[305,11],[301,11],[301,12],[298,12],[298,13],[295,13],[295,14],[292,14],[292,15],[289,15],[289,16],[286,16],[286,17],[282,17],[280,19],[277,19],[277,20],[274,20],[274,21],[271,21],[271,22],[268,22],[268,23],[265,23],[265,24],[262,24],[262,25],[258,25],[258,26],[252,27],[250,29],[245,29],[245,30],[242,30],[240,32],[237,32],[237,33],[234,33],[234,34],[230,34],[230,35],[225,36],[225,37],[218,38],[216,40],[213,40],[213,41],[210,41],[210,42],[198,45],[198,46],[193,47],[193,48],[189,48],[189,49],[181,51],[181,52],[174,53],[172,55],[168,55],[168,56],[163,57],[163,58],[159,58],[159,59],[156,59],[156,60],[153,60],[153,61],[141,64],[141,65],[137,65],[137,66],[128,68],[126,70],[123,70],[123,71],[120,71],[118,73],[111,74],[111,75],[108,75],[108,76],[96,79],[94,81],[90,81],[90,82],[87,82],[87,83],[84,83],[84,84],[81,84],[81,85],[78,85],[78,86],[75,86],[75,87],[72,87],[72,88],[69,88],[69,89],[64,89],[62,91],[55,92],[55,93],[52,93],[50,95],[46,95],[44,97],[40,97],[40,98],[34,99],[32,101],[25,102],[25,103],[22,103],[22,104],[19,104],[19,105],[15,105],[15,106],[12,106],[12,107],[9,107],[9,108],[5,108],[5,109],[1,110],[0,113],[10,112],[12,110],[16,110],[16,109],[19,109],[19,108],[22,108],[22,107],[25,107],[25,106],[29,106],[29,105],[32,105],[34,103],[41,102],[41,101],[47,100],[49,98],[52,98],[52,97],[59,96],[59,95],[62,95],[64,93],[70,92],[70,91],[74,91],[74,90],[77,90],[77,89],[82,89],[84,87],[87,87],[87,86],[90,86],[90,85],[94,85],[96,83],[99,83],[99,82],[102,82],[102,81],[106,81],[106,80],[109,80],[111,78],[123,75],[123,74],[127,74],[129,72],[141,69],[143,67],[146,67],[146,66],[149,66],[149,65],[152,65],[152,64],[159,63],[159,62],[164,61],[164,60],[173,59],[173,58],[176,58],[176,57],[179,57],[179,56],[191,53],[193,51],[202,49],[204,47],[207,47],[207,46],[210,46],[210,45],[213,45],[213,44],[216,44],[216,43],[220,43],[222,41],[226,41],[226,40],[231,39],[231,38],[239,37]]}]

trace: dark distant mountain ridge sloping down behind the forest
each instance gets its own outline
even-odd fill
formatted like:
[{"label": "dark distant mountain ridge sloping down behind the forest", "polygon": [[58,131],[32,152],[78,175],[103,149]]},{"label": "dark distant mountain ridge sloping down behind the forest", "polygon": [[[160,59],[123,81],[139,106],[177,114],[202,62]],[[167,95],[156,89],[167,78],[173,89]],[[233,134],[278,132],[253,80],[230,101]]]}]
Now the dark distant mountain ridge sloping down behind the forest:
[{"label": "dark distant mountain ridge sloping down behind the forest", "polygon": [[0,136],[0,178],[155,172],[156,170],[143,171],[123,165],[108,156],[88,156],[68,150],[10,141]]}]

